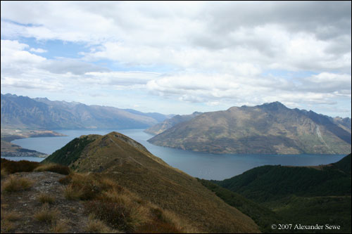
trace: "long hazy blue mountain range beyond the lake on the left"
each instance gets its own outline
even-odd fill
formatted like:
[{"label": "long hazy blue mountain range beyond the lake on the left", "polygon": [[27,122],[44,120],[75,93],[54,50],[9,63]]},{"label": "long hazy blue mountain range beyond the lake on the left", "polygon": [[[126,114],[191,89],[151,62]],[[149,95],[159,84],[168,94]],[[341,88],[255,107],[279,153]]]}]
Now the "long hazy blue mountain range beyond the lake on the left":
[{"label": "long hazy blue mountain range beyond the lake on the left", "polygon": [[100,105],[1,94],[1,127],[37,129],[144,129],[167,118]]}]

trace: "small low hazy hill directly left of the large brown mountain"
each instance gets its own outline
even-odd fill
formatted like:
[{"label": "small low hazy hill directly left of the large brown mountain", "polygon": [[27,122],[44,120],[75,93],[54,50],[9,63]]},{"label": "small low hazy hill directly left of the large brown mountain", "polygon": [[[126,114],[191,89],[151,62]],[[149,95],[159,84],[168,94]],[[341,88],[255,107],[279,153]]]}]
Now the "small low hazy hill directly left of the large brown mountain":
[{"label": "small low hazy hill directly left of the large brown mountain", "polygon": [[172,126],[180,124],[182,122],[187,122],[194,117],[201,115],[202,112],[194,112],[191,115],[175,115],[171,119],[165,119],[162,123],[151,126],[149,129],[144,130],[148,134],[161,134],[163,131],[170,129]]}]

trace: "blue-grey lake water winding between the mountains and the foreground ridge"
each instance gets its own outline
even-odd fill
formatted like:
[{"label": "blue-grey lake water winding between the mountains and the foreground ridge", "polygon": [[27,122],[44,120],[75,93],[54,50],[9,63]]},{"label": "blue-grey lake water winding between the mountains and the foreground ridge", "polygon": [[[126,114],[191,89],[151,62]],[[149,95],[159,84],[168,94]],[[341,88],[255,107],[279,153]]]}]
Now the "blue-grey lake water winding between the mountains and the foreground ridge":
[{"label": "blue-grey lake water winding between the mountains and the foreground ridge", "polygon": [[[12,141],[30,150],[51,154],[77,136],[88,134],[108,134],[113,130],[58,130],[68,136],[24,138]],[[115,130],[116,131],[116,130]],[[142,143],[153,155],[160,157],[172,167],[199,178],[222,180],[242,174],[244,171],[263,165],[314,166],[341,160],[345,155],[214,155],[152,145],[146,140],[152,137],[143,129],[117,130]],[[7,157],[19,160],[18,157]],[[31,160],[25,157],[26,160]],[[34,158],[41,161],[41,158]],[[34,161],[34,160],[33,160]]]}]

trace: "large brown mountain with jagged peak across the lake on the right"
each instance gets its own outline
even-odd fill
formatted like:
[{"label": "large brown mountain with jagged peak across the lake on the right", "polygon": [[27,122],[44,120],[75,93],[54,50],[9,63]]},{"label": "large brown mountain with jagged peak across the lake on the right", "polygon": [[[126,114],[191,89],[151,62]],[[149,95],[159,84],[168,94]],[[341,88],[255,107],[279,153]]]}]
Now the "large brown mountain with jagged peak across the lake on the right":
[{"label": "large brown mountain with jagged peak across the lake on the right", "polygon": [[148,141],[212,153],[348,154],[351,119],[343,122],[347,124],[342,127],[340,120],[275,102],[206,112]]}]

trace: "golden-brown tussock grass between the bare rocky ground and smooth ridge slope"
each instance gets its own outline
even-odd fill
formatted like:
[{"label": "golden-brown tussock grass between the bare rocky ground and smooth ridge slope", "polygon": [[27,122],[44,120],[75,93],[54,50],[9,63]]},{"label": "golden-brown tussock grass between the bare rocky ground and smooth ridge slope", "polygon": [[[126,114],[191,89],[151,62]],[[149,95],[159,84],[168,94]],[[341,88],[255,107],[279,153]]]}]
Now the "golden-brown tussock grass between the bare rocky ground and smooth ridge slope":
[{"label": "golden-brown tussock grass between the bare rocky ground and smooth ridge slope", "polygon": [[74,173],[63,178],[62,182],[66,184],[66,198],[86,200],[84,208],[91,215],[86,230],[89,233],[108,233],[111,230],[127,233],[199,233],[176,214],[141,199],[111,178]]}]

